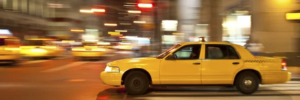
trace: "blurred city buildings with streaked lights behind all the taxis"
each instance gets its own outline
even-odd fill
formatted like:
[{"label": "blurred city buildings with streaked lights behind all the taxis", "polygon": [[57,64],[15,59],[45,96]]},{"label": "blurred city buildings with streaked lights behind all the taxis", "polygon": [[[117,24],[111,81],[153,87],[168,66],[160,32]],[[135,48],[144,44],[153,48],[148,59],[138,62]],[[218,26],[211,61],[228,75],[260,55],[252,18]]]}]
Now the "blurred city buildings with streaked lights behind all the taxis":
[{"label": "blurred city buildings with streaked lights behind all the taxis", "polygon": [[209,36],[208,41],[239,44],[254,55],[284,58],[296,66],[300,65],[299,18],[290,19],[298,14],[287,13],[299,13],[299,2],[1,0],[0,28],[9,29],[21,39],[33,35],[111,43],[132,40],[158,52],[175,43]]}]

